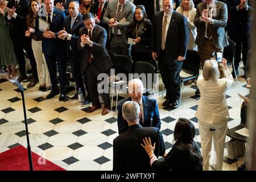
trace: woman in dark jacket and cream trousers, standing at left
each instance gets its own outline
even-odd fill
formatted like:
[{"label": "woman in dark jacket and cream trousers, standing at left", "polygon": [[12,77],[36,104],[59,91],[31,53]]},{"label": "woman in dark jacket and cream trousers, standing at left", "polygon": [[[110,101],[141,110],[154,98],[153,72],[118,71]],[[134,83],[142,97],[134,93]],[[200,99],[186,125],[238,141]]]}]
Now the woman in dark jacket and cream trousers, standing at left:
[{"label": "woman in dark jacket and cream trousers, standing at left", "polygon": [[46,64],[46,59],[42,53],[42,40],[34,35],[35,32],[35,19],[36,14],[40,9],[40,3],[38,0],[31,0],[29,6],[29,14],[27,15],[27,27],[26,36],[31,37],[32,51],[36,60],[36,69],[38,71],[39,90],[47,91],[50,89],[51,80],[49,78],[49,71]]}]

